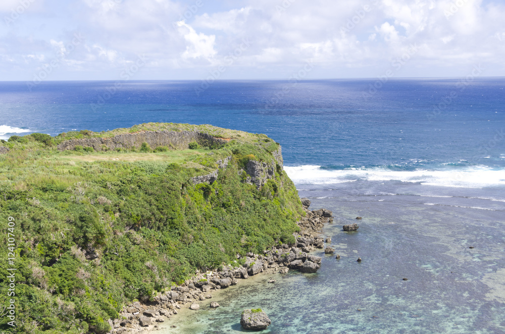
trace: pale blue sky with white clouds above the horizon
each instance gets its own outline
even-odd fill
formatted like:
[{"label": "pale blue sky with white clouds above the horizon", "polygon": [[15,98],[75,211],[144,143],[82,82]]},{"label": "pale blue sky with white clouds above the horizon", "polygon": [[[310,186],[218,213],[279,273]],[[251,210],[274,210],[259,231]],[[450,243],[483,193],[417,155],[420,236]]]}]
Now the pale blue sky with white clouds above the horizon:
[{"label": "pale blue sky with white clouds above the horizon", "polygon": [[505,76],[503,0],[1,0],[0,18],[8,81]]}]

